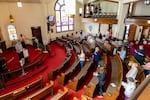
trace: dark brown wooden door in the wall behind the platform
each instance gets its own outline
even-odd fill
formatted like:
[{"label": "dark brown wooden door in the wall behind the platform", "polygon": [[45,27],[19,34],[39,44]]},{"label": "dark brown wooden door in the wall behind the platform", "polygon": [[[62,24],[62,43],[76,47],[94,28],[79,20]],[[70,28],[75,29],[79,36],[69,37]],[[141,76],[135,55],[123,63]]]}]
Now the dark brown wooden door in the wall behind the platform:
[{"label": "dark brown wooden door in the wall behind the platform", "polygon": [[42,43],[41,27],[31,27],[32,36],[36,37],[39,40],[39,43]]}]

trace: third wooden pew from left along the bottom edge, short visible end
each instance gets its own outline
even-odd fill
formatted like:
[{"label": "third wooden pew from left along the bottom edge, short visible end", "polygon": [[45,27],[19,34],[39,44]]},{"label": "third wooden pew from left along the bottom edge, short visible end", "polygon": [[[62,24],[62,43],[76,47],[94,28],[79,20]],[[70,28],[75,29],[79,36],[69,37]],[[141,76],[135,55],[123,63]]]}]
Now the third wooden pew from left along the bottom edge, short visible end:
[{"label": "third wooden pew from left along the bottom edge, short visible end", "polygon": [[67,100],[68,89],[64,87],[64,90],[58,90],[58,93],[51,98],[51,100]]}]

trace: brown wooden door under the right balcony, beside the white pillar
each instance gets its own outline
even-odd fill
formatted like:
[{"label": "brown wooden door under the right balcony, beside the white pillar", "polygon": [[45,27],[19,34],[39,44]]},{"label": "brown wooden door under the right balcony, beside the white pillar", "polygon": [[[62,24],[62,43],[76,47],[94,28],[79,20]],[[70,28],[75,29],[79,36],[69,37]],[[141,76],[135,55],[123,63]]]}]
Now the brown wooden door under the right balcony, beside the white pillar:
[{"label": "brown wooden door under the right balcony, beside the white pillar", "polygon": [[130,25],[129,33],[128,33],[128,41],[134,41],[134,36],[136,32],[136,25]]}]

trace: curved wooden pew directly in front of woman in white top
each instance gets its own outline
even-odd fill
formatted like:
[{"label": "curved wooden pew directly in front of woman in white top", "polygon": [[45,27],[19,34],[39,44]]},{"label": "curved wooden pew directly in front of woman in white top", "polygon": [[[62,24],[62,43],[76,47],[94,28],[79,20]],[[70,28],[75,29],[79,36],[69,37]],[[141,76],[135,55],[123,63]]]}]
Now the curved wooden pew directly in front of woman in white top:
[{"label": "curved wooden pew directly in front of woman in white top", "polygon": [[79,69],[79,59],[76,58],[73,65],[65,73],[61,73],[61,75],[57,77],[58,83],[60,85],[65,85],[69,78]]}]

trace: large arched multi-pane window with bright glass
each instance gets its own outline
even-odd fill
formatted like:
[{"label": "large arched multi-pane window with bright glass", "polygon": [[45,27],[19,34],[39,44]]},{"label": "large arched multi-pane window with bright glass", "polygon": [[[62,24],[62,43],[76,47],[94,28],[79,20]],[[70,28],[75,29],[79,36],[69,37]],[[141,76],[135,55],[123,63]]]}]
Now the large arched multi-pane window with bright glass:
[{"label": "large arched multi-pane window with bright glass", "polygon": [[56,32],[74,30],[75,0],[57,0],[55,13]]}]

